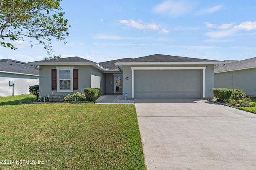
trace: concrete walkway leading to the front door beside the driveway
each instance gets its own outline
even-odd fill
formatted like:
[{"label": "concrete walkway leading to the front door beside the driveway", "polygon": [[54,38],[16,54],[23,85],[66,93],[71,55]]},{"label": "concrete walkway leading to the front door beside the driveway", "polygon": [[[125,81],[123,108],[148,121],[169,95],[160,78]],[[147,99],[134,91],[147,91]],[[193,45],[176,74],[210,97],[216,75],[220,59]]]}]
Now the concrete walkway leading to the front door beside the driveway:
[{"label": "concrete walkway leading to the front door beside the driveway", "polygon": [[122,95],[109,94],[100,96],[95,104],[134,104],[134,100],[124,100]]}]

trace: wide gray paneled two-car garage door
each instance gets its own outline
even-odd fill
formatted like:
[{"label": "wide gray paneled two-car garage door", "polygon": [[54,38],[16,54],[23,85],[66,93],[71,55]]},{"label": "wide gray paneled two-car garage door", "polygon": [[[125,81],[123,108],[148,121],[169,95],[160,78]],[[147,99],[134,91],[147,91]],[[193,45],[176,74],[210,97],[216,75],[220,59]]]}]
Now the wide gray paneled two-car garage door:
[{"label": "wide gray paneled two-car garage door", "polygon": [[200,70],[134,70],[135,99],[199,99]]}]

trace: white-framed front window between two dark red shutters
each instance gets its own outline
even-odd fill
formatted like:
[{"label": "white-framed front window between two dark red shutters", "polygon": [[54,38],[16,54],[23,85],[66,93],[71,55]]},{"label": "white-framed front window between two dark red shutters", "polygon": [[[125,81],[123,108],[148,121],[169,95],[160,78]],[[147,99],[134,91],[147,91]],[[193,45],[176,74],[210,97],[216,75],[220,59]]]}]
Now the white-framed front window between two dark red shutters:
[{"label": "white-framed front window between two dark red shutters", "polygon": [[73,68],[74,67],[56,67],[57,92],[73,92]]}]

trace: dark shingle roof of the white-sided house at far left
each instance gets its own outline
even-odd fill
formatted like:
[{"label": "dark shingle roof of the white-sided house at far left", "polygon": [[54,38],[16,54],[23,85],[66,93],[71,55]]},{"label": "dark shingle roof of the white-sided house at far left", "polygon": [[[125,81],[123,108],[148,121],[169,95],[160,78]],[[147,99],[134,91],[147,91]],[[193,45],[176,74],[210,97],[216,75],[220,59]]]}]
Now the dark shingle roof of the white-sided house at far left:
[{"label": "dark shingle roof of the white-sided house at far left", "polygon": [[24,62],[12,59],[0,60],[0,71],[39,75],[39,70],[33,66],[29,66]]}]

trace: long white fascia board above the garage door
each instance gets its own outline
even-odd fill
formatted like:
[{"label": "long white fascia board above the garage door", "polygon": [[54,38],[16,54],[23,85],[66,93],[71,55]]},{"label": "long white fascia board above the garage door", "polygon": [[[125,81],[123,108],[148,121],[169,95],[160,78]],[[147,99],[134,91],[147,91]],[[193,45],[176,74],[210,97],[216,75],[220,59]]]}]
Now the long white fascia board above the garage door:
[{"label": "long white fascia board above the garage door", "polygon": [[200,61],[200,62],[117,62],[115,65],[201,65],[201,64],[226,64],[224,61]]}]

